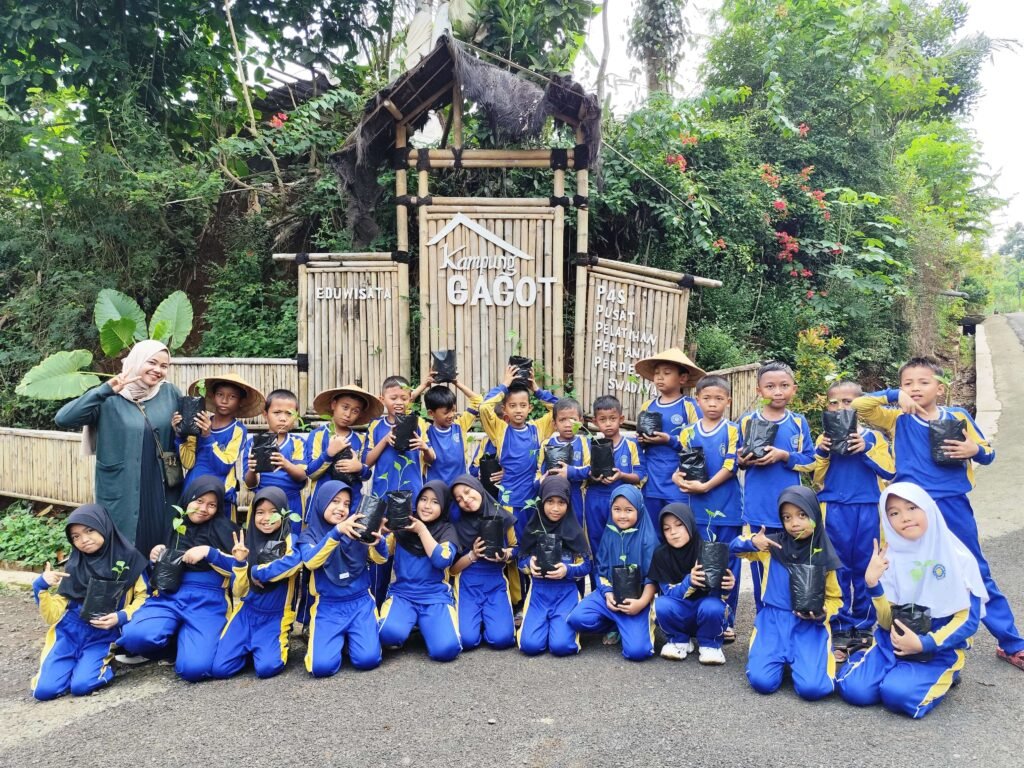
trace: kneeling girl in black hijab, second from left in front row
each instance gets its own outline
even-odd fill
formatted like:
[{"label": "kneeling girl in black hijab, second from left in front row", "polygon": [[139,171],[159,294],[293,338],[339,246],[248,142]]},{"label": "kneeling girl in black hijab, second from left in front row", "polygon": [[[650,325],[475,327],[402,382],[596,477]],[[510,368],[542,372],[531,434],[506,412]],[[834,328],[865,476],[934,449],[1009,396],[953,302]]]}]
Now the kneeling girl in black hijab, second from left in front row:
[{"label": "kneeling girl in black hijab, second from left in front row", "polygon": [[156,562],[166,550],[183,552],[181,585],[171,593],[154,594],[135,611],[118,644],[129,653],[153,657],[177,636],[174,671],[188,682],[210,677],[217,640],[230,612],[229,586],[238,558],[228,556],[240,544],[238,527],[222,512],[224,483],[220,477],[195,478],[182,494],[186,505],[181,525],[167,545],[153,548]]}]

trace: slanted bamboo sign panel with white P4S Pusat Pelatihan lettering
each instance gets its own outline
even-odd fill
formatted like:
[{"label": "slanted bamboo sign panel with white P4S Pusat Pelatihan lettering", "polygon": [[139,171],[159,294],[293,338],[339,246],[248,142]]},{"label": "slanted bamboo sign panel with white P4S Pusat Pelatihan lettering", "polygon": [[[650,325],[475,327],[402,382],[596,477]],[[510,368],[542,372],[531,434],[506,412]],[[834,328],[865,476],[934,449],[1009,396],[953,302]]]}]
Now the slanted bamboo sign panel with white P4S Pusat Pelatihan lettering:
[{"label": "slanted bamboo sign panel with white P4S Pusat Pelatihan lettering", "polygon": [[[654,386],[637,376],[637,360],[672,346],[684,347],[690,291],[636,267],[598,259],[577,272],[574,381],[587,413],[595,398],[610,394],[633,421]],[[658,270],[660,272],[660,270]],[[586,293],[583,287],[586,286]],[[685,348],[685,347],[684,347]]]}]

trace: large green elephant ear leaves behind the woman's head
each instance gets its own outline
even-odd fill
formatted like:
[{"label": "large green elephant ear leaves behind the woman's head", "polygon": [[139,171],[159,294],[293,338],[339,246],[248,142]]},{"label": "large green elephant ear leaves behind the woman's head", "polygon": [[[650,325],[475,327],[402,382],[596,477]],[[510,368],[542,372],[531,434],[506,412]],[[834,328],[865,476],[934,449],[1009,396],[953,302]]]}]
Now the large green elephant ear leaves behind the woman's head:
[{"label": "large green elephant ear leaves behind the woman's head", "polygon": [[[154,310],[146,326],[138,303],[119,291],[104,289],[96,297],[93,321],[99,332],[99,346],[116,359],[136,341],[156,339],[168,349],[180,349],[193,329],[193,307],[183,291],[175,291]],[[100,383],[100,377],[114,374],[88,371],[92,352],[73,349],[51,354],[22,378],[14,391],[23,397],[39,400],[66,400],[85,394]]]}]

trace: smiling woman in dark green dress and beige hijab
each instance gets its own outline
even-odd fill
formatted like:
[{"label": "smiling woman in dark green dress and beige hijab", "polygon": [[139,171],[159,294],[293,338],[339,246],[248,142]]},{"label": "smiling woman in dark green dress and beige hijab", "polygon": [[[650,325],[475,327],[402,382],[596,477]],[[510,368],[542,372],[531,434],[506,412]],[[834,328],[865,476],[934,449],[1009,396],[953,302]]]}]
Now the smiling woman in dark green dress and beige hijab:
[{"label": "smiling woman in dark green dress and beige hijab", "polygon": [[[181,392],[166,380],[170,362],[165,344],[140,341],[120,374],[55,417],[58,427],[83,428],[82,450],[96,457],[96,504],[145,557],[166,538],[180,490],[180,474],[166,472],[162,458],[177,461],[171,418]],[[169,474],[176,484],[168,484]]]}]

